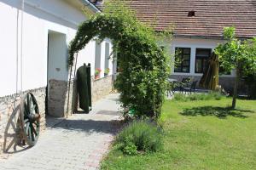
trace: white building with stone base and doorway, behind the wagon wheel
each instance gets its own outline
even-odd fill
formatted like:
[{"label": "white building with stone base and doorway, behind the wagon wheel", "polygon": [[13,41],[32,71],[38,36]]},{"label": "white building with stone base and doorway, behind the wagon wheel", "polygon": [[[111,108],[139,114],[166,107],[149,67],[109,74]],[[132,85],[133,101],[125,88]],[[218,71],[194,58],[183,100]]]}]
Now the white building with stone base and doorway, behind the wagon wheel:
[{"label": "white building with stone base and doorway, behind the wagon wheel", "polygon": [[[42,129],[46,114],[70,114],[75,70],[69,79],[68,44],[88,14],[99,12],[88,0],[0,1],[0,154],[15,138],[22,94],[32,92],[38,100]],[[112,43],[106,38],[91,40],[78,54],[74,67],[91,65],[93,101],[112,90],[111,52]],[[102,70],[97,80],[96,68]]]}]

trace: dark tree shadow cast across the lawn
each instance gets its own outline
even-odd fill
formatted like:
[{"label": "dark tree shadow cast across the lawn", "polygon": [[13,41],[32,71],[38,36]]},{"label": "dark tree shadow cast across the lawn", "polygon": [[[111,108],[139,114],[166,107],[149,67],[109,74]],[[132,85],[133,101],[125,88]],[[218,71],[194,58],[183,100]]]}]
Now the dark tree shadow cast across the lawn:
[{"label": "dark tree shadow cast across the lawn", "polygon": [[245,116],[244,113],[253,113],[253,111],[232,109],[230,107],[201,106],[185,109],[180,114],[183,116],[217,116],[218,118],[234,116],[246,118],[247,116]]}]

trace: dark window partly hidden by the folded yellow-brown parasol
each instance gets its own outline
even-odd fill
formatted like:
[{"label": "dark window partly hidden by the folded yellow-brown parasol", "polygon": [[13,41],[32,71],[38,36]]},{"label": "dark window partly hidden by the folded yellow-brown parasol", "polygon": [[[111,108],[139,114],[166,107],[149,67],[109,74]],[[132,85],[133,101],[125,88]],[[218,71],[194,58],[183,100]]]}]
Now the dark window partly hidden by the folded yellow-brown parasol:
[{"label": "dark window partly hidden by the folded yellow-brown parasol", "polygon": [[195,73],[203,73],[207,69],[208,59],[212,53],[211,48],[196,48]]}]

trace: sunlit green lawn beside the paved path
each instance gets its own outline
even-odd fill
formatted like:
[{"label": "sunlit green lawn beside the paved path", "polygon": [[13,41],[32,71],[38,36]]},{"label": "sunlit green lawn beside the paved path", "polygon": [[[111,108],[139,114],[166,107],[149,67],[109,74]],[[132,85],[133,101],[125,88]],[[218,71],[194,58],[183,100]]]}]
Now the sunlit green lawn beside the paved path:
[{"label": "sunlit green lawn beside the paved path", "polygon": [[102,169],[255,169],[256,100],[166,100],[164,150],[125,156],[111,150]]}]

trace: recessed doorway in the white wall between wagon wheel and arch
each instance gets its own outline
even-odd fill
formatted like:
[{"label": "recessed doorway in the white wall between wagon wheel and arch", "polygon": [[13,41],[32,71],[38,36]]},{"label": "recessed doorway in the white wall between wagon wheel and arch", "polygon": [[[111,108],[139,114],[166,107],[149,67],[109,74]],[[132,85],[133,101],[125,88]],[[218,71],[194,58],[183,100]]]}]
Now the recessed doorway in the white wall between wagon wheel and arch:
[{"label": "recessed doorway in the white wall between wagon wheel and arch", "polygon": [[48,66],[46,113],[50,116],[64,116],[67,93],[67,36],[48,32]]}]

